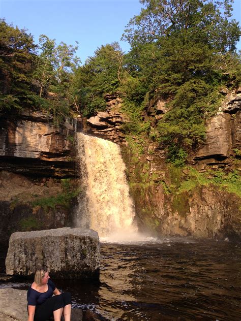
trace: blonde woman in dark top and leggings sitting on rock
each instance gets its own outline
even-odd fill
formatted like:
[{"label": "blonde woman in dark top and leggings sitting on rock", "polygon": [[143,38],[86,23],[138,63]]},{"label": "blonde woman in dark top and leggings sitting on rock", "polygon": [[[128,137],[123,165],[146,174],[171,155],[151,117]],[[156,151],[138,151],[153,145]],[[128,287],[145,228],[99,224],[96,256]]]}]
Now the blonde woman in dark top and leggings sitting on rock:
[{"label": "blonde woman in dark top and leggings sitting on rock", "polygon": [[61,321],[63,312],[65,321],[70,321],[71,294],[61,294],[50,280],[48,271],[40,269],[27,291],[27,310],[28,321],[45,321],[51,316],[54,321]]}]

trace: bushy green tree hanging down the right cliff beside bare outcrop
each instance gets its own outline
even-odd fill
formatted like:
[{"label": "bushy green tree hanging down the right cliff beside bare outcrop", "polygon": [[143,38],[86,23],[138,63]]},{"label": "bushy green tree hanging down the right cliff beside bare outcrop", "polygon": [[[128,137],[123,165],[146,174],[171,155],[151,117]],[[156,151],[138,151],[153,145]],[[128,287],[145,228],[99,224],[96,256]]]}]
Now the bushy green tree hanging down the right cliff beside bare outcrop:
[{"label": "bushy green tree hanging down the right cliff beside bare outcrop", "polygon": [[[180,85],[169,104],[171,110],[158,123],[160,142],[170,145],[170,159],[184,165],[184,150],[195,148],[205,139],[205,118],[218,110],[219,94],[203,80]],[[174,156],[174,158],[173,158]],[[186,155],[187,156],[187,155]]]}]

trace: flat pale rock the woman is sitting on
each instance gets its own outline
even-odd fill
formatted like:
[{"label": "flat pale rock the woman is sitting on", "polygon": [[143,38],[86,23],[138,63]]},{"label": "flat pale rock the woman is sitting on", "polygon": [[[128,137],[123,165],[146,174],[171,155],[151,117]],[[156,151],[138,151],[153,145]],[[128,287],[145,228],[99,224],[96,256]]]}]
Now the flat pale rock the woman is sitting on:
[{"label": "flat pale rock the woman is sitting on", "polygon": [[[11,287],[0,289],[0,320],[26,321],[27,291]],[[82,321],[82,310],[72,309],[71,321]]]}]

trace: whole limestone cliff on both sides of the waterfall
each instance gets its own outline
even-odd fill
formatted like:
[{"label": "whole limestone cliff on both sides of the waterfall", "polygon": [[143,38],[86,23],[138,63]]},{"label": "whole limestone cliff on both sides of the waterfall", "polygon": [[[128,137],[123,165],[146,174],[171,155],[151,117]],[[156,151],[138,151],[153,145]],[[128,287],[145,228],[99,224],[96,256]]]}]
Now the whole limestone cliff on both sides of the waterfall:
[{"label": "whole limestone cliff on both sides of the waterfall", "polygon": [[[219,112],[207,122],[205,143],[190,155],[191,167],[184,170],[167,165],[157,142],[124,133],[128,119],[117,95],[106,96],[105,112],[78,117],[76,127],[84,133],[121,146],[141,230],[200,238],[241,234],[240,198],[230,185],[240,170],[241,89],[225,94]],[[155,125],[166,112],[164,101],[150,101],[143,117]],[[56,128],[46,114],[22,112],[4,115],[0,132],[2,243],[15,231],[70,225],[72,200],[79,191],[75,180],[66,189],[62,179],[77,176],[73,127],[65,123]],[[213,180],[220,170],[227,179]]]}]

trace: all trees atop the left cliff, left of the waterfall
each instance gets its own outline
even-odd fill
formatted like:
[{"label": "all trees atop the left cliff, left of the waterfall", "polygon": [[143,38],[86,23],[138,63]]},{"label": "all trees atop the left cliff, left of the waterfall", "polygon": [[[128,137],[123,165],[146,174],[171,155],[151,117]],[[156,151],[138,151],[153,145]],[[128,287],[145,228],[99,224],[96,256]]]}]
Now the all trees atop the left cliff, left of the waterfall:
[{"label": "all trees atop the left cliff, left of the waterfall", "polygon": [[38,46],[25,29],[0,20],[0,111],[39,108],[59,124],[72,108],[78,109],[72,92],[76,50],[45,35]]}]

